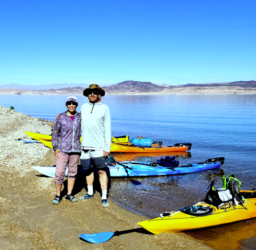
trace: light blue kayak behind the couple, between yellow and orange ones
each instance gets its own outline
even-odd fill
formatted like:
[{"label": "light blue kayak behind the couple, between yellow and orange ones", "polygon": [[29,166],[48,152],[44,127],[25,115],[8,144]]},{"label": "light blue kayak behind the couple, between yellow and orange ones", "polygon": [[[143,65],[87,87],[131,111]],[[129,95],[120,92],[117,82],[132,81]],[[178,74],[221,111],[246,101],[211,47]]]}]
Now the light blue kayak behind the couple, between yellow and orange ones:
[{"label": "light blue kayak behind the couple, between yellow and orange ones", "polygon": [[[224,164],[224,157],[212,158],[204,163],[180,163],[175,167],[159,166],[155,164],[141,163],[138,161],[124,161],[116,165],[109,166],[111,177],[127,176],[167,176],[171,174],[187,174],[209,169],[220,168]],[[38,172],[49,177],[55,177],[56,166],[32,166]],[[68,169],[66,169],[65,178],[67,178]]]}]

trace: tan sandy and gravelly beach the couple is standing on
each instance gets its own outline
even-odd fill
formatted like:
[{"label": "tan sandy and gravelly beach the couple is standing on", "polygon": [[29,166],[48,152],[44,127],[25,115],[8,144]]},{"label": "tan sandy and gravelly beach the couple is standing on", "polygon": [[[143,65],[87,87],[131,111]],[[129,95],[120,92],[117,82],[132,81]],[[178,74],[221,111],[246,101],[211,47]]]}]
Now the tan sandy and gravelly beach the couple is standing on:
[{"label": "tan sandy and gravelly beach the couple is standing on", "polygon": [[[30,140],[24,131],[50,134],[52,123],[0,106],[0,245],[1,249],[213,249],[185,234],[152,235],[146,231],[114,236],[101,244],[91,244],[79,234],[115,232],[139,228],[141,215],[125,210],[111,199],[101,206],[100,194],[85,202],[65,199],[53,205],[55,184],[32,169],[32,165],[52,165],[52,149]],[[77,180],[75,194],[86,194],[84,181]]]}]

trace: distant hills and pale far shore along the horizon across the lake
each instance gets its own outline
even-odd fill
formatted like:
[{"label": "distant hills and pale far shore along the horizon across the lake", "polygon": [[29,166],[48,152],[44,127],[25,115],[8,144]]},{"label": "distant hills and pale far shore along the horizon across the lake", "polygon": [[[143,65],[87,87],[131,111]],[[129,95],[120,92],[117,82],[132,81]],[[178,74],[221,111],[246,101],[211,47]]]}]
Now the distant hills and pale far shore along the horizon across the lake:
[{"label": "distant hills and pale far shore along the horizon across the lake", "polygon": [[[0,94],[47,94],[47,95],[82,95],[88,85],[53,84],[53,85],[0,85]],[[256,81],[222,82],[212,84],[159,85],[152,82],[124,81],[110,86],[101,86],[110,95],[143,94],[255,94]],[[225,89],[225,90],[224,90]]]}]

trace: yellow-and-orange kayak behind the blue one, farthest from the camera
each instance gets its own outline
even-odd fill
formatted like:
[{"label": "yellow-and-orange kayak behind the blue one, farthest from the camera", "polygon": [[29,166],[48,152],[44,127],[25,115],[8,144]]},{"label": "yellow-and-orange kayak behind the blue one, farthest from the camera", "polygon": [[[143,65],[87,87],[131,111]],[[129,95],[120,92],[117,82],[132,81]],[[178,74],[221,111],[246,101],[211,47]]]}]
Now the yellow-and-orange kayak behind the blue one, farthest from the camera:
[{"label": "yellow-and-orange kayak behind the blue one, farthest from the camera", "polygon": [[[52,148],[52,136],[39,133],[24,131],[28,136],[49,148]],[[80,139],[81,140],[81,139]],[[168,153],[168,152],[187,152],[191,149],[191,143],[178,143],[173,146],[162,146],[152,144],[151,147],[134,146],[132,143],[112,142],[110,153]]]}]

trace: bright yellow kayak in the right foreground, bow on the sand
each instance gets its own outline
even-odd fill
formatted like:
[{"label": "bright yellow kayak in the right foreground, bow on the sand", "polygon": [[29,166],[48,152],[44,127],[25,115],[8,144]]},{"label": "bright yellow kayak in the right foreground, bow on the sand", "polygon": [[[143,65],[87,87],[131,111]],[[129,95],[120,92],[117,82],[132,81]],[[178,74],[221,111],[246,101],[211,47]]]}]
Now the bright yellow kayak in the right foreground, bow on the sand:
[{"label": "bright yellow kayak in the right foreground, bow on the sand", "polygon": [[217,209],[217,207],[208,205],[205,202],[200,202],[195,206],[208,207],[208,215],[196,216],[175,211],[138,224],[153,234],[162,232],[177,233],[204,227],[220,226],[256,217],[256,191],[240,191],[240,194],[247,199],[243,206],[238,205],[230,206],[226,209]]}]

